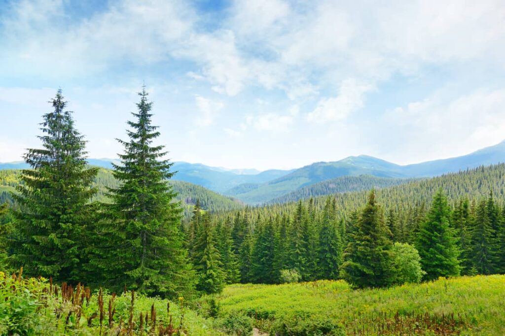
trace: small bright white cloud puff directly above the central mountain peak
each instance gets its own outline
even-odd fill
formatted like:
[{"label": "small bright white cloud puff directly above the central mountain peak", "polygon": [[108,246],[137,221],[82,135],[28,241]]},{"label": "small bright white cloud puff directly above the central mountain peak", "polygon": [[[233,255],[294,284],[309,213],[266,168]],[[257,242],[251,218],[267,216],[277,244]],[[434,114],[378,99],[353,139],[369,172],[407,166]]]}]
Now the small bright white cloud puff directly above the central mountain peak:
[{"label": "small bright white cloud puff directly above the central mountain peak", "polygon": [[363,107],[365,93],[372,88],[371,85],[358,83],[355,79],[347,79],[340,84],[338,96],[321,99],[316,108],[307,115],[307,120],[319,123],[343,120]]}]

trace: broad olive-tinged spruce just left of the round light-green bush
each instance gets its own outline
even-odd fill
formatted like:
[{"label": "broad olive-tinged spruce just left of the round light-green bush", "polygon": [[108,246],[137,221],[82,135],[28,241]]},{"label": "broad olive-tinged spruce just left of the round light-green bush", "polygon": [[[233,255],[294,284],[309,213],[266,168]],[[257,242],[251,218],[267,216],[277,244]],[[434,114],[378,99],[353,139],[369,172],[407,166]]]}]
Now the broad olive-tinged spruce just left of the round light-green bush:
[{"label": "broad olive-tinged spruce just left of the round light-green bush", "polygon": [[359,288],[390,285],[393,281],[390,236],[372,190],[359,216],[354,237],[347,245],[347,261],[340,269],[342,278]]}]

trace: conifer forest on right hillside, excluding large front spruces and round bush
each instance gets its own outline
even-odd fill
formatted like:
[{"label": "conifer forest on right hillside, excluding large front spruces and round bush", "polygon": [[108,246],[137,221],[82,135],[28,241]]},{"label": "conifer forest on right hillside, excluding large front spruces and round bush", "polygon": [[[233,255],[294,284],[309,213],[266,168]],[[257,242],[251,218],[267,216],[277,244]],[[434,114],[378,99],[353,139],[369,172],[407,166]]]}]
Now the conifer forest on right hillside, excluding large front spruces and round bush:
[{"label": "conifer forest on right hillside, excluding large front spruces and round bush", "polygon": [[[504,176],[505,164],[499,164],[377,189],[377,220],[385,223],[384,232],[392,242],[418,246],[421,227],[430,211],[437,209],[432,206],[432,200],[437,199],[463,251],[459,259],[462,273],[505,272],[500,268],[505,264],[499,265],[505,263],[505,255],[498,247],[505,241]],[[442,196],[437,196],[439,191]],[[368,195],[369,191],[338,193],[213,215],[218,241],[231,239],[236,258],[235,263],[224,263],[225,271],[238,271],[244,283],[279,282],[284,269],[298,270],[303,280],[338,278],[345,250],[356,239],[354,230]],[[445,197],[447,206],[443,205]],[[189,223],[187,230],[194,230],[191,225],[197,224]],[[479,231],[480,225],[485,225],[485,230]],[[491,252],[478,251],[483,237]],[[332,251],[329,254],[325,252],[328,248]],[[230,252],[223,249],[221,253]],[[486,254],[486,262],[493,265],[480,265],[480,259],[475,259],[476,255],[482,257],[479,253]],[[321,260],[327,255],[332,257],[322,269]]]}]

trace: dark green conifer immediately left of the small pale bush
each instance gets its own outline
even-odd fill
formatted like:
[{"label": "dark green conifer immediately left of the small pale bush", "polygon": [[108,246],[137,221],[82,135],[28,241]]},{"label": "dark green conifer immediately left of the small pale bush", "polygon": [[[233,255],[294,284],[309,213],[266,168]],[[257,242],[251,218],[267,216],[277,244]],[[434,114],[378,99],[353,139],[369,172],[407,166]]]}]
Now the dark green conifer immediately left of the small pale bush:
[{"label": "dark green conifer immediately left of the small pale bush", "polygon": [[257,227],[257,238],[251,252],[251,280],[255,283],[273,284],[275,234],[272,219]]}]

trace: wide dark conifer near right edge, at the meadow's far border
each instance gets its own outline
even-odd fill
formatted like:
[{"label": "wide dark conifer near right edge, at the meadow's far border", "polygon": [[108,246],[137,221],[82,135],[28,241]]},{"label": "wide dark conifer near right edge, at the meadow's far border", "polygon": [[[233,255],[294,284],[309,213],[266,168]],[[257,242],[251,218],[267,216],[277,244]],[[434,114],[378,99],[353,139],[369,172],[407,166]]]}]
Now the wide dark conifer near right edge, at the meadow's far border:
[{"label": "wide dark conifer near right edge, at the meadow's far border", "polygon": [[[492,208],[489,209],[489,206]],[[477,207],[475,223],[472,229],[473,265],[478,274],[493,274],[496,269],[498,244],[496,231],[493,229],[494,203],[481,201]],[[497,217],[497,216],[496,216]]]}]

